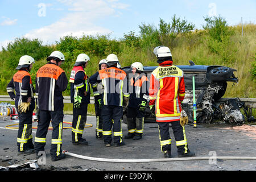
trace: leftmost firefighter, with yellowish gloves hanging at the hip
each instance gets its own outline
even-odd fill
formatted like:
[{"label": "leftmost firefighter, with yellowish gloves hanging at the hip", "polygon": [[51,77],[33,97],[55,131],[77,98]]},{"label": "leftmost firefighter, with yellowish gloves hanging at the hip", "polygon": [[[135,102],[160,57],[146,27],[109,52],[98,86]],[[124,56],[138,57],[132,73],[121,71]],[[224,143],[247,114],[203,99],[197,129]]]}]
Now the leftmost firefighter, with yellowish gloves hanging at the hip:
[{"label": "leftmost firefighter, with yellowish gloves hanging at the hip", "polygon": [[[32,85],[30,71],[35,60],[33,57],[24,55],[20,57],[19,64],[6,89],[19,115],[19,129],[17,137],[18,152],[20,154],[34,153],[32,143],[32,115],[35,109],[34,87]],[[15,90],[15,93],[14,93]]]}]

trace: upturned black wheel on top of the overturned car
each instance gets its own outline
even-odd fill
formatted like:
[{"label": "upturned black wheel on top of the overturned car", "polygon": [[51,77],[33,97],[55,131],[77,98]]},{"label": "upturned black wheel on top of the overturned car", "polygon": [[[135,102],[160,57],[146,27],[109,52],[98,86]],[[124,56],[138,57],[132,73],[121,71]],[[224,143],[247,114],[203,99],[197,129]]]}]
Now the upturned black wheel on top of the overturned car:
[{"label": "upturned black wheel on top of the overturned car", "polygon": [[225,81],[233,75],[233,69],[229,67],[213,68],[210,73],[210,80],[212,81]]}]

